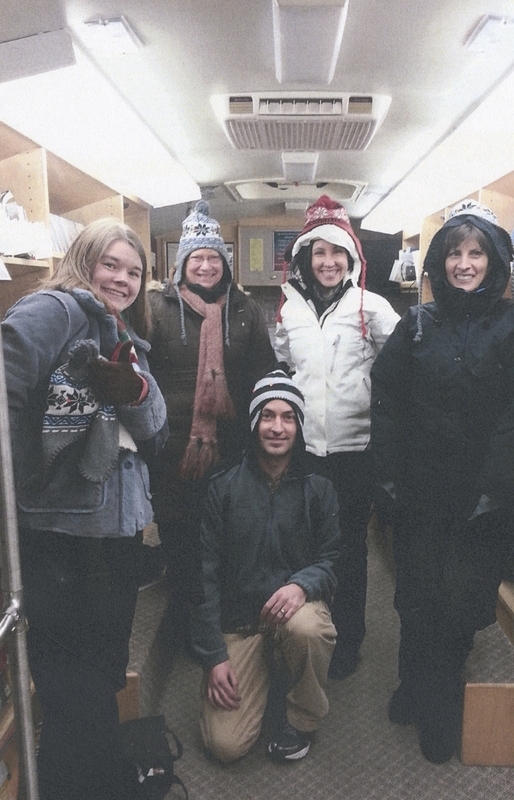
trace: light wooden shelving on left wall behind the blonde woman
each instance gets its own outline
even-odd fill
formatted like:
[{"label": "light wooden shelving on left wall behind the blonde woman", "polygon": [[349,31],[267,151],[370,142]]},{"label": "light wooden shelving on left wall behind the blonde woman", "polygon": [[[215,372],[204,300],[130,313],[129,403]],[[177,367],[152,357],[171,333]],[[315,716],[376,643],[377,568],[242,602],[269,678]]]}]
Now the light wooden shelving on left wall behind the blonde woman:
[{"label": "light wooden shelving on left wall behind the blonde woman", "polygon": [[[130,165],[127,165],[127,169]],[[86,175],[35,142],[0,122],[0,192],[11,191],[30,222],[50,227],[50,215],[87,225],[100,217],[114,217],[141,237],[148,263],[150,206],[126,197]],[[60,252],[54,257],[62,255]],[[24,294],[33,291],[53,267],[53,259],[2,257],[11,281],[0,283],[0,315]]]}]

